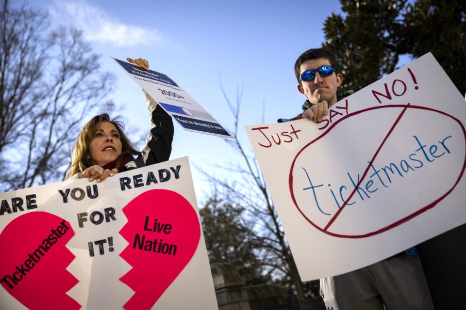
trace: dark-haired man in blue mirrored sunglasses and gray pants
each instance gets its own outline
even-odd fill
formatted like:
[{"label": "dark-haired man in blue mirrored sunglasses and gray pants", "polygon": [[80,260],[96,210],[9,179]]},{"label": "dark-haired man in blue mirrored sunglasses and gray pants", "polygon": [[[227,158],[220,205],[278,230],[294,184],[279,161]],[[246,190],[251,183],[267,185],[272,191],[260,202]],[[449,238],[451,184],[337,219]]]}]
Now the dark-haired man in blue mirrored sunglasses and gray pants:
[{"label": "dark-haired man in blue mirrored sunglasses and gray pants", "polygon": [[[322,48],[305,51],[295,63],[298,91],[307,100],[299,118],[322,121],[328,109],[352,91],[337,97],[343,82],[333,55]],[[284,119],[279,122],[286,121]],[[316,266],[318,268],[318,266]],[[349,273],[320,279],[328,310],[432,310],[432,298],[415,248]]]}]

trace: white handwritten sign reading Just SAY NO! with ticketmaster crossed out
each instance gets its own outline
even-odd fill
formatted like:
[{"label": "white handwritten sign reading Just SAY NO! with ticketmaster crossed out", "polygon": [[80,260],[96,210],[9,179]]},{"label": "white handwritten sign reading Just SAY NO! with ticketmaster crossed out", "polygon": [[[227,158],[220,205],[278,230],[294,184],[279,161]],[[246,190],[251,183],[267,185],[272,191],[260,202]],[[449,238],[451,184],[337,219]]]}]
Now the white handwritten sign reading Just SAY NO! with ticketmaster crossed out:
[{"label": "white handwritten sign reading Just SAY NO! with ticketmaster crossed out", "polygon": [[465,123],[465,99],[429,53],[319,124],[246,126],[301,279],[376,263],[465,223]]}]

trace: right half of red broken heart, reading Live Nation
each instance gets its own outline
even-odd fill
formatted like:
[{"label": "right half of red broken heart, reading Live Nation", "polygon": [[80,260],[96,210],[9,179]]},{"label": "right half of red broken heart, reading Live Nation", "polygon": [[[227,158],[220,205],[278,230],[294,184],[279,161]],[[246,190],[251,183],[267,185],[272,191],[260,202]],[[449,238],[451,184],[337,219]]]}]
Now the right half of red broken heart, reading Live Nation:
[{"label": "right half of red broken heart, reading Live Nation", "polygon": [[129,242],[120,256],[133,266],[120,280],[135,292],[125,309],[150,309],[191,260],[200,240],[196,211],[180,194],[153,189],[123,208]]}]

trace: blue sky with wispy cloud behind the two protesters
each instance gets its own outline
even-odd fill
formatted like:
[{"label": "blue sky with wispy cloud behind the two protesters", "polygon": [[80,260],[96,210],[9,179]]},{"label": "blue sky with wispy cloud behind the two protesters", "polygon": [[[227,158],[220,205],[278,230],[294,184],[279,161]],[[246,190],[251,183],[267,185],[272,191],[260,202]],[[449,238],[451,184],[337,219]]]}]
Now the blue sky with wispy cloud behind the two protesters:
[{"label": "blue sky with wispy cloud behind the two protesters", "polygon": [[[235,100],[243,87],[239,137],[250,147],[244,124],[275,123],[300,112],[294,62],[324,40],[323,22],[340,12],[328,1],[34,1],[47,10],[51,26],[73,25],[117,77],[111,97],[127,131],[147,135],[150,118],[139,86],[110,59],[142,57],[150,68],[175,80],[227,128],[233,117],[220,89]],[[133,137],[138,140],[140,137]],[[142,145],[139,145],[142,147]],[[209,164],[235,162],[218,137],[184,131],[175,124],[171,158],[189,156],[191,165],[214,172]],[[196,194],[205,200],[209,185],[192,167]],[[217,170],[215,173],[222,173]]]}]

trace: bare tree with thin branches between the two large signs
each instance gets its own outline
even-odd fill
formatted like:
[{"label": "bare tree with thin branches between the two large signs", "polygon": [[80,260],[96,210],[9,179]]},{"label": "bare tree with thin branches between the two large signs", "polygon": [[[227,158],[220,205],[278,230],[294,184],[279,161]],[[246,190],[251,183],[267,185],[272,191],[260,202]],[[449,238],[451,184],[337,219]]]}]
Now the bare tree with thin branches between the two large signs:
[{"label": "bare tree with thin branches between the two large signs", "polygon": [[[265,275],[288,279],[295,286],[298,298],[304,299],[303,284],[262,172],[253,153],[247,151],[238,139],[243,87],[237,86],[234,104],[226,94],[221,81],[220,88],[233,115],[233,130],[230,130],[233,133],[233,139],[224,139],[224,141],[241,158],[241,163],[213,165],[217,170],[222,171],[221,177],[216,177],[202,171],[199,167],[197,168],[206,180],[216,188],[216,199],[222,196],[221,201],[227,203],[230,208],[242,210],[241,217],[250,222],[248,224],[250,225],[249,230],[245,229],[245,226],[239,225],[237,221],[233,222],[233,226],[236,225],[239,231],[248,235],[246,242],[251,242],[256,247],[259,245],[256,248],[256,254],[261,266],[260,269],[265,272]],[[263,121],[264,113],[265,111],[262,115]],[[228,177],[224,177],[225,175]],[[219,191],[219,188],[222,190]],[[230,228],[233,230],[232,227]]]}]

